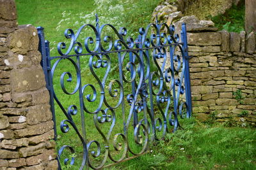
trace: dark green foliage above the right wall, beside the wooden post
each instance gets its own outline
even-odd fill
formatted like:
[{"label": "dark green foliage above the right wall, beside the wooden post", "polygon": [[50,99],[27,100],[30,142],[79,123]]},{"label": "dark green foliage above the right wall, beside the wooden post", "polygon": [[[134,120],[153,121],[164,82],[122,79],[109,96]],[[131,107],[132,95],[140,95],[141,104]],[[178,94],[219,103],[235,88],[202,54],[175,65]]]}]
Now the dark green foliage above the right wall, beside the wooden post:
[{"label": "dark green foliage above the right wall, beside the wooden post", "polygon": [[233,5],[232,8],[227,10],[224,14],[217,15],[216,17],[208,17],[211,19],[215,26],[220,30],[228,32],[240,32],[244,30],[244,1],[239,4]]}]

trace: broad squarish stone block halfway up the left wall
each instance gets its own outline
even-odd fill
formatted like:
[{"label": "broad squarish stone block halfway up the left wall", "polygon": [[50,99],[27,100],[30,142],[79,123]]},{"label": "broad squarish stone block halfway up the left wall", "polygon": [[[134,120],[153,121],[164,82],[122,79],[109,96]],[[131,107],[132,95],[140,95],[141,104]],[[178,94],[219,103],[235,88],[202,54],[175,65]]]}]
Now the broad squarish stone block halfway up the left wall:
[{"label": "broad squarish stone block halfway up the left wall", "polygon": [[42,67],[30,67],[19,70],[12,70],[12,90],[15,92],[26,92],[38,90],[45,86],[45,79]]}]

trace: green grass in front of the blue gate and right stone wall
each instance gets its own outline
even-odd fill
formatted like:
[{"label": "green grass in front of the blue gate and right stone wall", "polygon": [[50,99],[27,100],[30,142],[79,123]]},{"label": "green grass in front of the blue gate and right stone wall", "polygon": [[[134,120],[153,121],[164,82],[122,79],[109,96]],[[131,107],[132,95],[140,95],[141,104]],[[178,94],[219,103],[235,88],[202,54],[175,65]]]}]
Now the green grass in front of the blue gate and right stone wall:
[{"label": "green grass in front of the blue gate and right stone wall", "polygon": [[113,169],[256,169],[255,129],[184,121],[184,130],[151,146],[152,153]]}]

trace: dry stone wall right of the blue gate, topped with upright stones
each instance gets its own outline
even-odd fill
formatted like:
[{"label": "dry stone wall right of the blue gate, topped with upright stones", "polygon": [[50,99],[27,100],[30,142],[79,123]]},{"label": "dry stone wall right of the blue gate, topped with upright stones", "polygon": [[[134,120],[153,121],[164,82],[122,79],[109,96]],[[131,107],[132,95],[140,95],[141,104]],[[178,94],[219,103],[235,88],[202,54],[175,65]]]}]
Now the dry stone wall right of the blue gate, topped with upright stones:
[{"label": "dry stone wall right of the blue gate, topped with upright stones", "polygon": [[[196,18],[180,22],[184,20]],[[193,115],[202,121],[211,117],[255,125],[255,33],[216,31],[195,23],[187,24]]]}]

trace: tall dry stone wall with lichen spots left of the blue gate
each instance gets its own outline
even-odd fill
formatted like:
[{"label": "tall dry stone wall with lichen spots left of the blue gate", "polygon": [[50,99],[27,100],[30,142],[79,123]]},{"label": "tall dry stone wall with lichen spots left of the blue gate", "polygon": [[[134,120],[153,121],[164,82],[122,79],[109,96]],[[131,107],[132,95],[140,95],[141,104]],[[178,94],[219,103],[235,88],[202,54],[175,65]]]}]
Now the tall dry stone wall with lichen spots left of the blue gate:
[{"label": "tall dry stone wall with lichen spots left of the blue gate", "polygon": [[57,169],[49,92],[38,35],[0,0],[0,170]]}]

